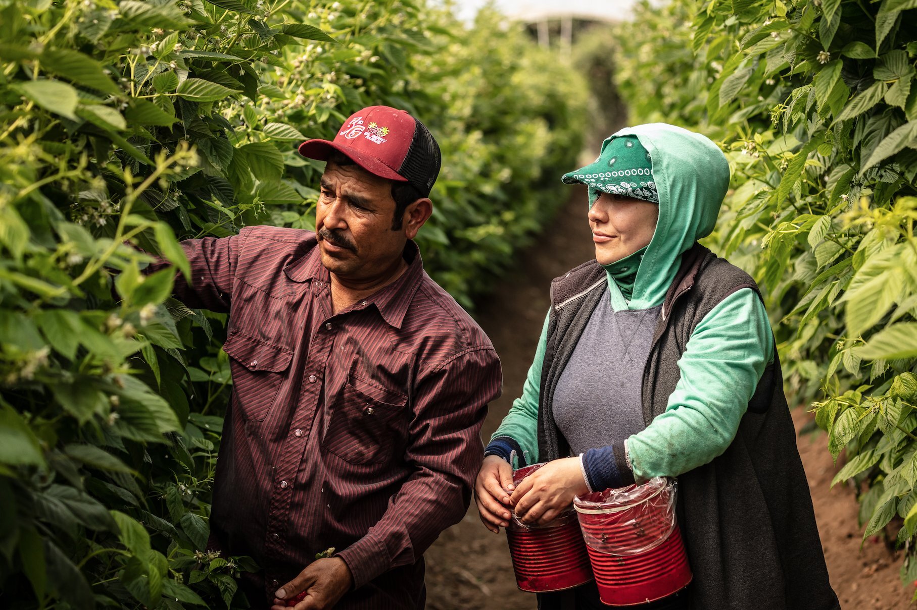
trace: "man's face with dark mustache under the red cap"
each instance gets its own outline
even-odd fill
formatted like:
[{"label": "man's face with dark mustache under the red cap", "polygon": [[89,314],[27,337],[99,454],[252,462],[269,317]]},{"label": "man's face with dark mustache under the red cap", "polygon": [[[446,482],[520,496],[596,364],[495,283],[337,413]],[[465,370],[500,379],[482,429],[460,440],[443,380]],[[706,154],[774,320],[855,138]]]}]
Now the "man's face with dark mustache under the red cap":
[{"label": "man's face with dark mustache under the red cap", "polygon": [[322,265],[338,278],[372,279],[399,264],[407,241],[392,230],[392,183],[356,164],[328,161],[315,210]]}]

